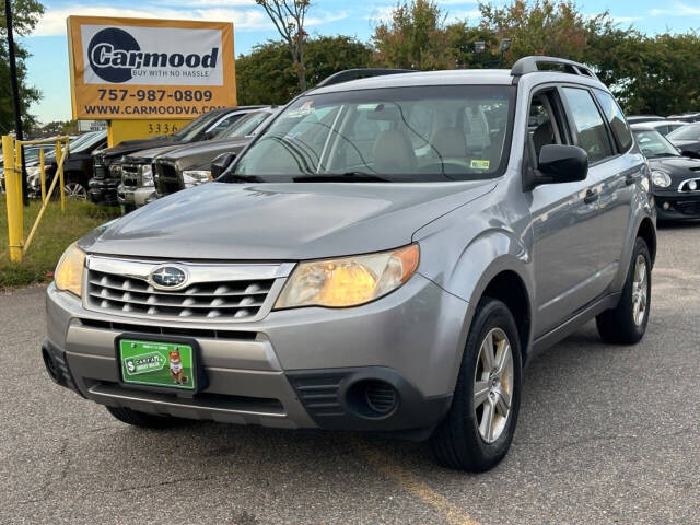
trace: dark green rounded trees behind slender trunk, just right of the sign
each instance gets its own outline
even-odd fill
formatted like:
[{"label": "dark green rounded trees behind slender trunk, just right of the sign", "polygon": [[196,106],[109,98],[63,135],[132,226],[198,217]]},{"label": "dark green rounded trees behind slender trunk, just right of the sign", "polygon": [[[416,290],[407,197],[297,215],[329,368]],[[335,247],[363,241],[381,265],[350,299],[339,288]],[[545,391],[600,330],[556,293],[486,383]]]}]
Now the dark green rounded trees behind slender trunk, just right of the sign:
[{"label": "dark green rounded trees behind slender trunk, just right of the sign", "polygon": [[[326,77],[372,66],[372,48],[349,36],[318,36],[306,43],[306,77],[314,86]],[[236,59],[238,104],[285,104],[301,93],[284,42],[255,46]]]}]

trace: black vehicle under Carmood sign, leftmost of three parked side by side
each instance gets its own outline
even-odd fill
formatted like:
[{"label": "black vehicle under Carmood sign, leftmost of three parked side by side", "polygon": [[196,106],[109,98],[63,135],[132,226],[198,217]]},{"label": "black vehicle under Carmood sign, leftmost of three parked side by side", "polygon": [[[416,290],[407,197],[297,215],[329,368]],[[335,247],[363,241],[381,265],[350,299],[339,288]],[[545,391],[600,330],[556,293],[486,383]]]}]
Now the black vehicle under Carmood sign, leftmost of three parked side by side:
[{"label": "black vehicle under Carmood sign, leftmost of three parked side by side", "polygon": [[90,182],[90,200],[105,205],[118,203],[117,187],[121,184],[121,161],[124,156],[147,149],[188,144],[211,139],[238,118],[259,107],[264,106],[214,109],[200,115],[172,135],[141,140],[127,140],[113,148],[98,151],[95,154],[94,174]]}]

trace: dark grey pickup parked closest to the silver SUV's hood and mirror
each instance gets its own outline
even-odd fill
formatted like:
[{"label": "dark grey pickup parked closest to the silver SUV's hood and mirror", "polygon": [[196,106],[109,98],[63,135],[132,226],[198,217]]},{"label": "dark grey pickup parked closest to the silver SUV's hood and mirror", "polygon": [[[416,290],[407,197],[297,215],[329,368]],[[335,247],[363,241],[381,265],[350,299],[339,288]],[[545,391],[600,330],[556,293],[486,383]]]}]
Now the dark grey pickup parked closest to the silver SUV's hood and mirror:
[{"label": "dark grey pickup parked closest to the silver SUV's hood and mirror", "polygon": [[277,107],[253,112],[224,129],[215,140],[172,150],[159,156],[153,163],[159,197],[211,180],[213,160],[225,153],[231,153],[230,161],[233,160],[278,112]]}]

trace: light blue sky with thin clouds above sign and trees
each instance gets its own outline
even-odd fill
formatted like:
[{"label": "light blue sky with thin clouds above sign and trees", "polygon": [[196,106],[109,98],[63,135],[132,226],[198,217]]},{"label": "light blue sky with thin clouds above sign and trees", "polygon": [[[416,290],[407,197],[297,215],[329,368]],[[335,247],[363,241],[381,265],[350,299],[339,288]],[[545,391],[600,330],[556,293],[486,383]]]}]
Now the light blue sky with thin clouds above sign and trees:
[{"label": "light blue sky with thin clouds above sign and trees", "polygon": [[[508,0],[492,0],[506,3]],[[278,34],[255,0],[43,0],[46,13],[23,45],[28,83],[42,91],[43,100],[31,112],[39,121],[71,118],[66,18],[71,14],[98,16],[159,18],[233,22],[236,56],[256,44],[277,39]],[[479,18],[478,2],[438,0],[450,20]],[[386,19],[395,0],[312,0],[307,32],[312,35],[349,35],[368,40],[378,21]],[[648,34],[700,30],[698,0],[579,0],[583,13],[609,10],[612,19],[627,27],[633,24]]]}]

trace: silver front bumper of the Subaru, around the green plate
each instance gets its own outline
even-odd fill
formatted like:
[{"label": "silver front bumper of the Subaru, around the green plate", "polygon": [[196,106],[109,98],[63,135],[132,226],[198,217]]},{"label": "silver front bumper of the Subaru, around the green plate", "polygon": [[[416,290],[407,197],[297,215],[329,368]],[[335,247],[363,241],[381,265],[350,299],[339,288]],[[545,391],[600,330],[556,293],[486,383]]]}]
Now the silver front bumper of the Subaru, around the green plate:
[{"label": "silver front bumper of the Subaru, around the green plate", "polygon": [[[450,407],[470,315],[466,302],[420,275],[364,306],[271,312],[223,326],[97,313],[54,284],[47,311],[45,348],[63,352],[74,389],[96,402],[230,423],[420,436]],[[194,338],[208,386],[192,396],[122,385],[115,339],[124,332]],[[390,411],[366,410],[361,386],[369,382],[394,388]]]}]

